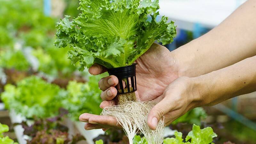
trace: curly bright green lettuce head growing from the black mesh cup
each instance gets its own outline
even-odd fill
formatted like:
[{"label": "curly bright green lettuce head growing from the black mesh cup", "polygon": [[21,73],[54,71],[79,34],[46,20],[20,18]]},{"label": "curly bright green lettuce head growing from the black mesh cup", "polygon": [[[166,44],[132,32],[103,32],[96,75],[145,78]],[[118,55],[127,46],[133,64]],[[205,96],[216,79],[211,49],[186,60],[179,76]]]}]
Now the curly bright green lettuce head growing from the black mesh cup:
[{"label": "curly bright green lettuce head growing from the black mesh cup", "polygon": [[81,13],[57,23],[57,47],[69,51],[79,70],[98,63],[106,68],[131,65],[154,41],[169,44],[176,36],[174,22],[158,20],[158,0],[80,0]]}]

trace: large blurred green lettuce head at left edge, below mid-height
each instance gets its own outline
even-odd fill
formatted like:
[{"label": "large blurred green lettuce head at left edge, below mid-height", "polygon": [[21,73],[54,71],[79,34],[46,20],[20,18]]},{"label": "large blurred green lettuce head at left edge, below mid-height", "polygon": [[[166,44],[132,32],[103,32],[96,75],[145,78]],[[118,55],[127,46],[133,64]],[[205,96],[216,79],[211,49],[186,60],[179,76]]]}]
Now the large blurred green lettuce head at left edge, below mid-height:
[{"label": "large blurred green lettuce head at left edge, below mid-height", "polygon": [[40,118],[58,115],[63,99],[62,90],[55,84],[30,76],[17,83],[17,86],[6,85],[1,99],[9,109],[27,118]]}]

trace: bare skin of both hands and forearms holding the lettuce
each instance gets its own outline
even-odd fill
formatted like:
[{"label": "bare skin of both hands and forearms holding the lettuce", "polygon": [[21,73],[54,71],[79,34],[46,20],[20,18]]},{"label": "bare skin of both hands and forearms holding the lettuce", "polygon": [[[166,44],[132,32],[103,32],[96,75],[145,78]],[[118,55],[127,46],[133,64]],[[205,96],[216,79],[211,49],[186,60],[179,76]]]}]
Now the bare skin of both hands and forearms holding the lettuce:
[{"label": "bare skin of both hands and forearms holding the lettuce", "polygon": [[[256,91],[255,17],[256,1],[248,0],[204,36],[172,52],[153,44],[136,61],[137,98],[157,102],[148,114],[152,130],[163,117],[168,125],[192,108]],[[93,75],[104,71],[97,64],[89,69]],[[117,83],[115,76],[100,80],[101,108],[114,104]],[[79,120],[87,130],[120,127],[111,116],[85,113]]]}]

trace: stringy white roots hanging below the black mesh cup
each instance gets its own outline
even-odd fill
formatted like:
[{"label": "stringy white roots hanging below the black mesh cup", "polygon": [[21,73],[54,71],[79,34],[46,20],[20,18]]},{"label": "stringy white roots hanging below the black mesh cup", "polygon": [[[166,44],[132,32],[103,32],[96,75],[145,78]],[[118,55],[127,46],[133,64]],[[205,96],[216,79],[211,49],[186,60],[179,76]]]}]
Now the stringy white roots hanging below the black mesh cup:
[{"label": "stringy white roots hanging below the black mesh cup", "polygon": [[138,131],[144,134],[148,144],[161,144],[164,141],[164,122],[160,120],[155,131],[148,127],[148,112],[155,104],[152,101],[128,101],[123,105],[104,108],[101,115],[113,116],[123,127],[129,143]]}]

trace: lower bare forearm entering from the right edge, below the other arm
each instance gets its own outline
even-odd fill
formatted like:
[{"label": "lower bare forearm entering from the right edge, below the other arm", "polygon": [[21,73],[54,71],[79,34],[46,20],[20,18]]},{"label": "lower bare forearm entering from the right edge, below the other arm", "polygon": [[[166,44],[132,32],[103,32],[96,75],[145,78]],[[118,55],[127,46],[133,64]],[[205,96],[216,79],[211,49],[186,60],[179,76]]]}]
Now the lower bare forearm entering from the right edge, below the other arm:
[{"label": "lower bare forearm entering from the right edge, below the other arm", "polygon": [[256,56],[234,65],[192,78],[203,105],[215,105],[256,91]]}]

